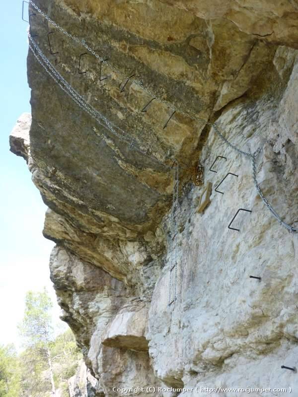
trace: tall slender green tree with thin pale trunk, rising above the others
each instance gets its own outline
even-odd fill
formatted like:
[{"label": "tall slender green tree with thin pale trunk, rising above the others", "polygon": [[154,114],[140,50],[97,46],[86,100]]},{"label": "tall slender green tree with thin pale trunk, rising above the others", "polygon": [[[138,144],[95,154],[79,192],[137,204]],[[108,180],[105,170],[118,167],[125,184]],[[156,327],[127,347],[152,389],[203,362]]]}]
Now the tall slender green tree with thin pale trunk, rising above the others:
[{"label": "tall slender green tree with thin pale trunk, rising above the others", "polygon": [[23,396],[44,396],[47,383],[56,394],[50,347],[54,340],[52,302],[47,291],[29,291],[25,298],[25,313],[19,327],[25,351],[21,355]]}]

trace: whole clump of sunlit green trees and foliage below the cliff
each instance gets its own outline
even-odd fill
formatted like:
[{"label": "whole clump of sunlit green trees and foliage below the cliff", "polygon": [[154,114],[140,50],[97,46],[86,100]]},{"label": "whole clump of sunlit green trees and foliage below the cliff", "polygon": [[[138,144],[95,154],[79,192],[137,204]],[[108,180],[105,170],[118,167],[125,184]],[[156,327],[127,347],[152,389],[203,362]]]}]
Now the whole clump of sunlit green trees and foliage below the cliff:
[{"label": "whole clump of sunlit green trees and foliage below the cliff", "polygon": [[72,377],[82,355],[68,330],[54,337],[52,302],[46,290],[29,291],[19,326],[24,350],[0,345],[0,397],[68,396]]}]

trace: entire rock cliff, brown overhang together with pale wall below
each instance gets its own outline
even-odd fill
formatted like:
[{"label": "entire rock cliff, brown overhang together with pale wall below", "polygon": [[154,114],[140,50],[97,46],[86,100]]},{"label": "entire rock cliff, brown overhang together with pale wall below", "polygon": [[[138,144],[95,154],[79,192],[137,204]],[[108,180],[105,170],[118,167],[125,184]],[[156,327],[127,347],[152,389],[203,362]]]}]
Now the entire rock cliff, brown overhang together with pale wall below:
[{"label": "entire rock cliff, brown overhang together with pale wall below", "polygon": [[30,144],[10,144],[49,207],[51,278],[100,393],[298,390],[281,368],[298,367],[298,234],[255,188],[298,227],[296,2],[37,5],[78,40],[30,10]]}]

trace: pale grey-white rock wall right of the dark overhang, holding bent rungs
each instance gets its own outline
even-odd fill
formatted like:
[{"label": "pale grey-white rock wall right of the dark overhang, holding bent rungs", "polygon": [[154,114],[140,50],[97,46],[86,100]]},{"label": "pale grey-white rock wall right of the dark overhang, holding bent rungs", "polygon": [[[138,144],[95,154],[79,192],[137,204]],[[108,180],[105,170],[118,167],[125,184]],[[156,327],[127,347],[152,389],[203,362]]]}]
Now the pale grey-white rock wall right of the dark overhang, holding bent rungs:
[{"label": "pale grey-white rock wall right of the dark overhang, holding bent rungs", "polygon": [[[244,150],[263,147],[258,182],[282,218],[297,224],[297,119],[295,130],[288,119],[292,112],[284,111],[293,84],[297,86],[296,68],[276,106],[272,98],[256,101],[248,118],[238,103],[221,115],[218,125]],[[209,168],[217,155],[224,158],[212,168],[215,173]],[[262,379],[266,387],[295,389],[297,379],[281,365],[296,362],[297,234],[285,231],[264,208],[253,186],[251,161],[223,146],[214,132],[201,159],[205,179],[214,187],[211,203],[203,214],[196,212],[203,188],[192,189],[181,202],[178,222],[185,228],[171,241],[149,311],[153,367],[164,382],[180,379],[193,388],[257,388]],[[233,175],[216,189],[227,173]],[[235,218],[231,227],[239,231],[228,229],[239,208],[251,212]],[[175,261],[177,300],[168,310],[169,269]],[[268,374],[266,366],[271,366]]]}]

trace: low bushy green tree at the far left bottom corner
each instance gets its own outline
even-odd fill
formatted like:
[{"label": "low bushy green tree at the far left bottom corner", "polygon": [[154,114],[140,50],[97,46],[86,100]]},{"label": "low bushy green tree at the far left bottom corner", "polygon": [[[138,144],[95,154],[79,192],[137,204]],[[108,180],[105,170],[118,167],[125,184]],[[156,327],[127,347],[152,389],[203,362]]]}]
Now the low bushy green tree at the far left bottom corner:
[{"label": "low bushy green tree at the far left bottom corner", "polygon": [[20,374],[18,358],[13,345],[0,345],[0,397],[18,397]]}]

